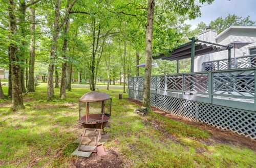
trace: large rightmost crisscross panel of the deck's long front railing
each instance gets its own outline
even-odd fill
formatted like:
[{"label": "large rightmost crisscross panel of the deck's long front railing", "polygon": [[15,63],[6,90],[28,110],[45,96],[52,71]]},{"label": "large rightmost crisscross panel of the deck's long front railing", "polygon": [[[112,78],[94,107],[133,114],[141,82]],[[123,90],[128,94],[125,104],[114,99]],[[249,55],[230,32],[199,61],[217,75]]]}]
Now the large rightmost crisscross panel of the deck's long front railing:
[{"label": "large rightmost crisscross panel of the deck's long front railing", "polygon": [[254,96],[254,70],[212,73],[213,93],[234,97]]}]

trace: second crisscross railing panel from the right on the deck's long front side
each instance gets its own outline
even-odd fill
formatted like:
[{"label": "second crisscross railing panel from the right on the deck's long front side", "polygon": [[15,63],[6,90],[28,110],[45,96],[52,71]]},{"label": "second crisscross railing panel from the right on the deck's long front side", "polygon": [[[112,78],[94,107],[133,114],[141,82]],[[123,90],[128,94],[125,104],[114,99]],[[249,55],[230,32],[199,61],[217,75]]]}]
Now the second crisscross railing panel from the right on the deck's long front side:
[{"label": "second crisscross railing panel from the right on the deck's long front side", "polygon": [[184,75],[184,90],[196,93],[208,93],[208,73]]}]

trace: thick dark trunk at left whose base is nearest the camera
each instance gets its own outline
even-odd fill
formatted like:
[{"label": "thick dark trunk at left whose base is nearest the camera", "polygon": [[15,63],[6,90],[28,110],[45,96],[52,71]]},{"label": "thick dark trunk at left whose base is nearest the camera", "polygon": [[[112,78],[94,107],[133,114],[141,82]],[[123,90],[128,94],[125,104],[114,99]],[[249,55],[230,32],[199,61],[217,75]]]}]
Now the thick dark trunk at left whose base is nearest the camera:
[{"label": "thick dark trunk at left whose base is nearest the camera", "polygon": [[[14,14],[15,3],[13,0],[9,0],[9,30],[10,30],[10,40],[15,41],[13,35],[16,33],[17,23],[16,16]],[[23,97],[22,97],[22,86],[20,83],[20,68],[19,68],[19,59],[17,49],[18,46],[14,43],[9,45],[10,47],[10,61],[11,61],[11,76],[12,76],[12,110],[18,110],[25,108],[23,105]]]}]

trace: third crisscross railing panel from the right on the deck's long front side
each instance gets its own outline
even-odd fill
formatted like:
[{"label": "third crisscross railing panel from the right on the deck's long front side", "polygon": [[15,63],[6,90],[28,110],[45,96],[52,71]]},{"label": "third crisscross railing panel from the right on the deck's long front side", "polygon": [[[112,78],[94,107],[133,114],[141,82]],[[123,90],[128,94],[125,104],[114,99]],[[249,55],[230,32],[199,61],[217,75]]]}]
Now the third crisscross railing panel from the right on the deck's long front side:
[{"label": "third crisscross railing panel from the right on the deck's long front side", "polygon": [[182,75],[167,75],[167,90],[182,91]]}]

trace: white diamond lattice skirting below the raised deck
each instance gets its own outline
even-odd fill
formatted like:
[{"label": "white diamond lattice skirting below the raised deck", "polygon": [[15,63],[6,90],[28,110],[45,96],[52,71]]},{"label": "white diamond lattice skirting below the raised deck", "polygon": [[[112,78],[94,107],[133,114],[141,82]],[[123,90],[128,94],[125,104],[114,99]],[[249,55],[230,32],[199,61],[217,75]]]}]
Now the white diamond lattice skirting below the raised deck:
[{"label": "white diamond lattice skirting below the raised deck", "polygon": [[[142,92],[129,89],[129,98],[142,101]],[[188,120],[206,123],[256,139],[256,113],[159,94],[151,94],[151,105]]]}]

